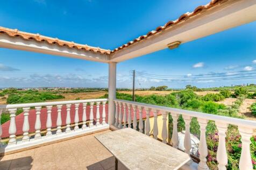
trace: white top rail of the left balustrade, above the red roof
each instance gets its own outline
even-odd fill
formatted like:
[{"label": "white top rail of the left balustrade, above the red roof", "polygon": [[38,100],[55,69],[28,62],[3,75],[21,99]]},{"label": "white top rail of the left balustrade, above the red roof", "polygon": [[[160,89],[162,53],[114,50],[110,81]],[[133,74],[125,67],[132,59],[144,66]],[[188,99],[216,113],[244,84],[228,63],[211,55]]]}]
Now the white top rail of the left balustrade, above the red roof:
[{"label": "white top rail of the left balustrade, above the red roof", "polygon": [[101,102],[101,101],[108,101],[108,99],[66,100],[66,101],[38,102],[38,103],[30,103],[30,104],[10,104],[10,105],[5,105],[4,108],[10,109],[10,108],[20,108],[20,107],[80,104],[80,103],[86,103],[86,102]]}]

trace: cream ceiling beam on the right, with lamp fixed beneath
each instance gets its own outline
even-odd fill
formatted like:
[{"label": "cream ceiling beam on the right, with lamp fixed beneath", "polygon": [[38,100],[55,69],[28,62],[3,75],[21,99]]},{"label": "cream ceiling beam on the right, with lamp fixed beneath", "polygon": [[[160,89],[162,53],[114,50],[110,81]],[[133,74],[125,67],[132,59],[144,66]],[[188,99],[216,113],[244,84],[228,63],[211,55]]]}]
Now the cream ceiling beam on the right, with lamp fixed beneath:
[{"label": "cream ceiling beam on the right, with lamp fixed beneath", "polygon": [[256,0],[226,1],[180,24],[110,55],[112,62],[122,62],[168,48],[169,43],[186,43],[256,20]]}]

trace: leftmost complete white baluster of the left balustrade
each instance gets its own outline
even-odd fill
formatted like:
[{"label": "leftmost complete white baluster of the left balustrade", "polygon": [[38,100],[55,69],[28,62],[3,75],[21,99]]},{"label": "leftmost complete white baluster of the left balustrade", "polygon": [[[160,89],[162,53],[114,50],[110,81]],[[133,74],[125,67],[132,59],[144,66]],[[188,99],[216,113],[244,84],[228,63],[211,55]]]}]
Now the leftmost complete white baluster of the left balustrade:
[{"label": "leftmost complete white baluster of the left balustrade", "polygon": [[15,114],[17,111],[17,108],[12,108],[8,109],[10,112],[10,127],[9,127],[9,134],[10,134],[10,139],[8,144],[16,144],[16,122],[15,122]]}]

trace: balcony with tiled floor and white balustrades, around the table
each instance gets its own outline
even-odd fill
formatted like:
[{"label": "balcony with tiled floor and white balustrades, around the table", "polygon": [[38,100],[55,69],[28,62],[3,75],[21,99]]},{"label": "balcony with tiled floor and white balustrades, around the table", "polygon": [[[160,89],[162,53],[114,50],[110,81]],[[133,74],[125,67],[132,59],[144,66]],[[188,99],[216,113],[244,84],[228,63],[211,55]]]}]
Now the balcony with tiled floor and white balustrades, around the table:
[{"label": "balcony with tiled floor and white balustrades, around the table", "polygon": [[[109,125],[106,119],[110,116],[106,109],[107,101],[108,99],[91,99],[5,105],[11,120],[2,125],[1,167],[12,169],[24,166],[30,169],[40,166],[65,169],[74,166],[77,169],[111,169],[114,159],[96,141],[94,135],[122,128],[136,129],[181,150],[177,131],[179,115],[182,115],[186,127],[182,141],[184,152],[191,157],[189,164],[181,169],[208,168],[205,137],[208,121],[214,121],[218,129],[219,169],[225,168],[227,164],[225,132],[229,124],[237,125],[241,135],[240,169],[252,167],[250,138],[253,129],[256,129],[254,121],[115,99],[115,112],[111,113],[112,116],[115,115],[115,122]],[[16,116],[18,108],[23,108],[24,112]],[[173,119],[172,132],[168,131],[168,116]],[[191,153],[190,122],[193,117],[200,124],[199,158]],[[169,137],[169,142],[170,134],[172,136]]]}]

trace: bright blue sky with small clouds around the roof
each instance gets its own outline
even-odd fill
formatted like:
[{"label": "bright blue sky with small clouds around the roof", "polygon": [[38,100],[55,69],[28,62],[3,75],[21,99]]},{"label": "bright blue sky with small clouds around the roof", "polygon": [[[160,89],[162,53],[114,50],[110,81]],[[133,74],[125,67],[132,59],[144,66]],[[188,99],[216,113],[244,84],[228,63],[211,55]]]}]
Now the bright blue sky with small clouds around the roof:
[{"label": "bright blue sky with small clouds around the roof", "polygon": [[[113,49],[209,1],[6,1],[1,26]],[[129,71],[199,75],[256,69],[256,23],[118,63],[117,87]],[[254,62],[253,62],[254,61]],[[199,63],[199,64],[198,64]],[[140,83],[140,85],[139,85]],[[255,79],[179,82],[137,78],[136,87],[182,88],[256,83]],[[107,87],[108,64],[0,48],[0,87]]]}]

